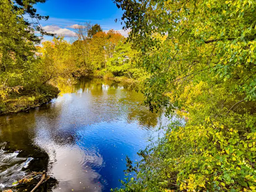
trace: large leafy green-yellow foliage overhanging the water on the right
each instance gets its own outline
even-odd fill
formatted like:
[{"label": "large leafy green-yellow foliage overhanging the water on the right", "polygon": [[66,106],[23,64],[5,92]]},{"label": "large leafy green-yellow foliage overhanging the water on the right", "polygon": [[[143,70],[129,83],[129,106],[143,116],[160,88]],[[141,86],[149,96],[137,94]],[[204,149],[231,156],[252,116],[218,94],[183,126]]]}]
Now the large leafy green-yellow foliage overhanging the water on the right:
[{"label": "large leafy green-yellow foliage overhanging the water on the right", "polygon": [[137,179],[124,190],[255,190],[255,2],[115,3],[138,64],[151,74],[145,104],[187,119],[140,152]]}]

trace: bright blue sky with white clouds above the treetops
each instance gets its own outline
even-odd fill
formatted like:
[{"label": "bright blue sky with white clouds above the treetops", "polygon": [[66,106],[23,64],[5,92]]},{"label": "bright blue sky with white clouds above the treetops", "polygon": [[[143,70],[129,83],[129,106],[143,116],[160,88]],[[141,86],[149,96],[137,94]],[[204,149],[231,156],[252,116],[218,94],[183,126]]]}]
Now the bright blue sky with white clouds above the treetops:
[{"label": "bright blue sky with white clouds above the treetops", "polygon": [[[35,8],[37,13],[50,16],[49,20],[40,21],[41,26],[46,31],[64,35],[68,41],[75,38],[74,25],[87,21],[100,24],[105,31],[113,28],[123,35],[127,34],[121,30],[122,10],[112,0],[47,0],[46,3],[38,3]],[[117,23],[116,18],[119,20]]]}]

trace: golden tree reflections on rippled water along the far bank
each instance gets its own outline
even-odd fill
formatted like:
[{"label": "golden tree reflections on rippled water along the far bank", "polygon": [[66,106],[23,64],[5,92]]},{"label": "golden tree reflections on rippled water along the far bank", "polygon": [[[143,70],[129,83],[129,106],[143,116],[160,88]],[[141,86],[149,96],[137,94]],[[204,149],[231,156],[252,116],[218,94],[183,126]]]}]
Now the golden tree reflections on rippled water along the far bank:
[{"label": "golden tree reflections on rippled water along the far bank", "polygon": [[[143,101],[143,95],[135,92],[137,85],[128,82],[116,82],[107,79],[81,79],[77,84],[66,84],[63,90],[77,92],[77,94],[89,93],[93,96],[91,100],[90,113],[108,119],[117,117],[116,115],[127,115],[128,122],[136,121],[141,126],[154,127],[157,125],[159,113],[151,113],[147,108],[138,105]],[[64,87],[64,86],[63,86]],[[128,91],[130,90],[130,91]],[[85,97],[87,97],[86,95]],[[91,101],[89,101],[91,102]],[[108,114],[106,114],[108,113]],[[94,118],[96,122],[97,118]],[[94,119],[92,118],[93,123]],[[104,120],[104,119],[102,119]]]}]

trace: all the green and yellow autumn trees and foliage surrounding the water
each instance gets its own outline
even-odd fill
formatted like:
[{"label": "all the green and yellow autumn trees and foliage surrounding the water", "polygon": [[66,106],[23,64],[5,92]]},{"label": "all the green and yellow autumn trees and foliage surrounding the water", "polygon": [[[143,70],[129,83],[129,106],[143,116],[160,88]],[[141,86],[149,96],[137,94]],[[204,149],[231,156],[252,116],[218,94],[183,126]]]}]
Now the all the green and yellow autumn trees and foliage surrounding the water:
[{"label": "all the green and yellow autumn trees and foliage surrounding the water", "polygon": [[[256,20],[253,0],[114,0],[123,29],[84,23],[77,40],[40,44],[34,3],[0,4],[0,113],[51,100],[84,76],[137,81],[149,110],[183,120],[127,158],[116,191],[256,190]],[[37,20],[29,23],[24,14]]]}]

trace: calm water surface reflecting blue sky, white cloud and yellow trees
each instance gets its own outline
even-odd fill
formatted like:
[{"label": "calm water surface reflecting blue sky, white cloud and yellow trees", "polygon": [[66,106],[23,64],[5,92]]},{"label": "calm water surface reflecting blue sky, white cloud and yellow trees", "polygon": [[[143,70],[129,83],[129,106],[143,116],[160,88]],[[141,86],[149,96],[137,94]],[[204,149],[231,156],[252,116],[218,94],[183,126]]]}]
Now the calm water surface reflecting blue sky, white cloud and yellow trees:
[{"label": "calm water surface reflecting blue sky, white cloud and yellow trees", "polygon": [[22,162],[31,158],[27,171],[46,169],[57,179],[53,191],[119,187],[125,157],[138,160],[136,152],[166,118],[139,105],[143,95],[124,84],[84,79],[59,86],[61,95],[51,103],[0,117],[0,141],[22,151]]}]

